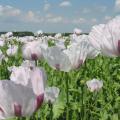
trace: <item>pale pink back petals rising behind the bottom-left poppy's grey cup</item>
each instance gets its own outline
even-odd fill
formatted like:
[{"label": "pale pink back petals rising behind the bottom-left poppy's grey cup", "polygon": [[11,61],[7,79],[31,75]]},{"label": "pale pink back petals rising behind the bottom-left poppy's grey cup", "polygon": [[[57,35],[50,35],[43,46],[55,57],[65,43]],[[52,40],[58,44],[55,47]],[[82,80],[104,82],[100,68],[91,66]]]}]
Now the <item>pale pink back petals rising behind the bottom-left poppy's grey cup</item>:
[{"label": "pale pink back petals rising behind the bottom-left poppy's grey cup", "polygon": [[16,84],[33,88],[36,95],[44,93],[46,73],[42,68],[13,67],[10,80]]}]

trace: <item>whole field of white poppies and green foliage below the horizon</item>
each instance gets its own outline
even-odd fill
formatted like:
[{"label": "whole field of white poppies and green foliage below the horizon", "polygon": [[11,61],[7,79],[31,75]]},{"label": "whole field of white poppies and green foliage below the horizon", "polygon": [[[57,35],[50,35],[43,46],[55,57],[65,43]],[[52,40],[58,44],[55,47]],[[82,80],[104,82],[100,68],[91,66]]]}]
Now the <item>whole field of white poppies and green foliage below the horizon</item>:
[{"label": "whole field of white poppies and green foliage below the horizon", "polygon": [[88,35],[0,37],[0,120],[119,120],[120,17]]}]

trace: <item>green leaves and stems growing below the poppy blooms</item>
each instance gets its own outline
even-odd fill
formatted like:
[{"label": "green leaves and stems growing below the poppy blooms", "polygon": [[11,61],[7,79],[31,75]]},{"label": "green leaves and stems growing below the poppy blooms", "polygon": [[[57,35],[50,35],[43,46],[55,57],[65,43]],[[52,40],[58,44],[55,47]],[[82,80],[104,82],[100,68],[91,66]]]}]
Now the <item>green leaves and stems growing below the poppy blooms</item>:
[{"label": "green leaves and stems growing below the poppy blooms", "polygon": [[[15,42],[14,44],[19,43]],[[23,59],[21,45],[19,44],[19,46],[17,55],[9,57],[8,62],[2,61],[0,64],[0,79],[9,79],[8,66],[21,65]],[[4,53],[6,49],[7,46],[1,48]],[[60,88],[60,95],[53,103],[54,120],[66,119],[66,79],[69,79],[70,120],[81,119],[81,113],[84,115],[84,120],[120,120],[119,58],[108,58],[99,55],[95,59],[86,60],[80,69],[71,71],[67,75],[64,72],[53,70],[44,60],[39,60],[38,66],[44,67],[47,72],[47,86]],[[91,93],[86,86],[86,81],[93,78],[103,80],[104,85],[99,92]],[[82,97],[83,106],[81,105]],[[49,120],[50,115],[49,105],[44,103],[33,120],[38,118]]]}]

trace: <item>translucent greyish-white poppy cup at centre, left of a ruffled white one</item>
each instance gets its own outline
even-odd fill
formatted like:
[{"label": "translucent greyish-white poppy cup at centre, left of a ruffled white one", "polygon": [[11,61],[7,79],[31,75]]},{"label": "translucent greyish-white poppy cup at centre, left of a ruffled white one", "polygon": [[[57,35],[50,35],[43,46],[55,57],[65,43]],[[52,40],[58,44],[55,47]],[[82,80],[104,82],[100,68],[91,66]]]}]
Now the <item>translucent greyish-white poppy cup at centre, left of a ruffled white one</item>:
[{"label": "translucent greyish-white poppy cup at centre, left of a ruffled white one", "polygon": [[45,60],[56,70],[68,72],[71,69],[69,57],[60,48],[53,46],[42,49]]}]

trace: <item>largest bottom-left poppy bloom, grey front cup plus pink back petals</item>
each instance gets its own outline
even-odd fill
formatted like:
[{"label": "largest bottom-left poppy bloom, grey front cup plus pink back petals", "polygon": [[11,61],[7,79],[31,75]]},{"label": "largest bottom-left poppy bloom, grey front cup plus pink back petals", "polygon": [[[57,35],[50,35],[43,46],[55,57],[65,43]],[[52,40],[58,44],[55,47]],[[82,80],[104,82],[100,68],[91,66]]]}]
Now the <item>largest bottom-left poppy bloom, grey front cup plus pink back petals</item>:
[{"label": "largest bottom-left poppy bloom, grey front cup plus pink back petals", "polygon": [[40,108],[46,74],[42,68],[26,68],[14,67],[11,80],[0,81],[0,119],[30,116]]}]

